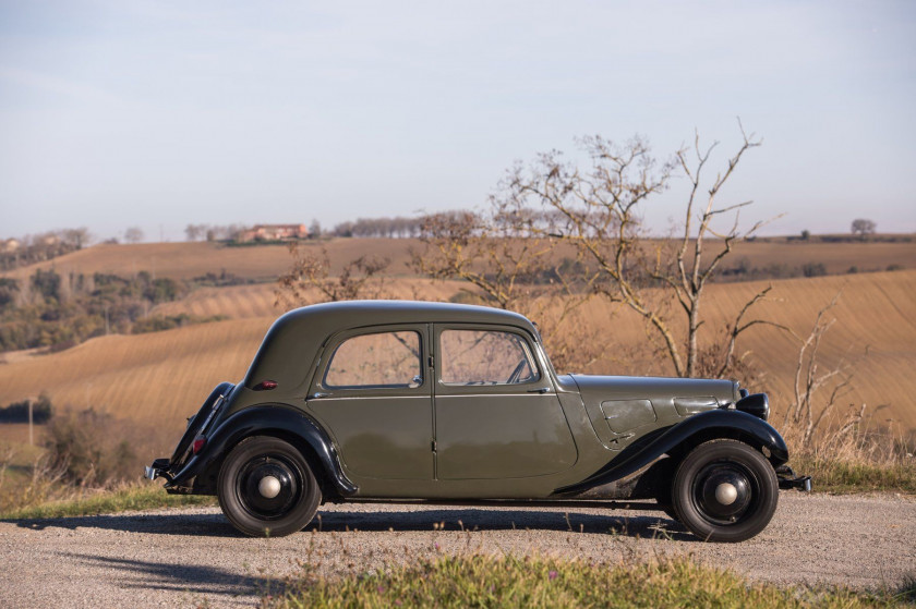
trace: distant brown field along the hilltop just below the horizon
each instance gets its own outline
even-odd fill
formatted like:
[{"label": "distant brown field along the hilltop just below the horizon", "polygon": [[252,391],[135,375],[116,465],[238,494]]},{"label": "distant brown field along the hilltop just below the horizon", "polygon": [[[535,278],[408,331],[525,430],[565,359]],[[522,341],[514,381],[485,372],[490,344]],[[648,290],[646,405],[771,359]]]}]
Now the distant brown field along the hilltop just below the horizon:
[{"label": "distant brown field along the hilltop just below the horizon", "polygon": [[[348,260],[374,254],[391,260],[388,272],[411,275],[407,267],[410,247],[422,248],[411,239],[333,239],[310,243],[306,247],[327,247],[337,271]],[[758,239],[735,246],[732,265],[747,258],[752,267],[786,265],[790,268],[813,263],[823,264],[829,273],[844,273],[849,267],[859,272],[884,270],[889,265],[916,268],[916,242],[913,243],[820,243],[787,241],[784,237]],[[58,272],[110,272],[130,276],[146,270],[156,277],[192,279],[206,272],[226,269],[245,279],[266,280],[287,270],[289,253],[281,245],[227,247],[215,243],[141,243],[135,245],[95,245],[53,260],[23,267],[7,273],[26,278],[36,268],[55,267]]]}]

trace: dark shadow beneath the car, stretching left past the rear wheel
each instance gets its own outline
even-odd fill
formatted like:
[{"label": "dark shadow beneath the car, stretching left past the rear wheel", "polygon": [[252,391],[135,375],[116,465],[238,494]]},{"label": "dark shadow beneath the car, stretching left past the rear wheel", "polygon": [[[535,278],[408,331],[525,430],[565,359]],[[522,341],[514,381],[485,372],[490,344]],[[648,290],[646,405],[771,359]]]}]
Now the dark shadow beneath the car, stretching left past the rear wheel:
[{"label": "dark shadow beneath the car, stretching left past the rear wheel", "polygon": [[[244,537],[220,513],[113,514],[14,521],[23,528],[104,528],[129,533]],[[575,510],[415,508],[379,507],[377,511],[320,510],[304,528],[317,533],[433,532],[433,531],[554,531],[608,534],[625,537],[665,537],[674,540],[696,538],[663,514],[629,515],[625,511],[606,514]]]}]

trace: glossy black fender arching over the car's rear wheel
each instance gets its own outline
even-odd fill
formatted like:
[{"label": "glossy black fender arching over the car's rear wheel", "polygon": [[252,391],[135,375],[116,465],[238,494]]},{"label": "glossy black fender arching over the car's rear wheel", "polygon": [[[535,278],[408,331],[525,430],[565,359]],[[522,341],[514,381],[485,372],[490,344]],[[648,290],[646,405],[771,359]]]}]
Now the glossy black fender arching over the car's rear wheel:
[{"label": "glossy black fender arching over the car's rear wheel", "polygon": [[188,461],[166,488],[186,489],[193,482],[195,492],[209,490],[209,483],[196,480],[196,477],[203,474],[215,475],[222,459],[237,443],[249,436],[258,435],[282,438],[297,446],[306,458],[308,452],[311,452],[318,461],[316,465],[326,474],[324,478],[332,486],[328,490],[342,497],[352,496],[359,490],[343,473],[337,450],[324,429],[302,411],[281,404],[248,407],[220,423],[207,434],[203,450]]}]

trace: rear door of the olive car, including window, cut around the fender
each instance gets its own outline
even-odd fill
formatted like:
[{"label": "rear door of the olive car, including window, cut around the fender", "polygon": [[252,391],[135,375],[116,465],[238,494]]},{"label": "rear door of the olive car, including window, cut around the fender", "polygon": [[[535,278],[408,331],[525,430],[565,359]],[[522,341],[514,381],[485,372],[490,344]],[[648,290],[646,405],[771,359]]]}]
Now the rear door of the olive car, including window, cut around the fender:
[{"label": "rear door of the olive car, including window, cut around the fender", "polygon": [[375,327],[324,350],[306,404],[352,474],[433,479],[427,336],[426,325]]}]

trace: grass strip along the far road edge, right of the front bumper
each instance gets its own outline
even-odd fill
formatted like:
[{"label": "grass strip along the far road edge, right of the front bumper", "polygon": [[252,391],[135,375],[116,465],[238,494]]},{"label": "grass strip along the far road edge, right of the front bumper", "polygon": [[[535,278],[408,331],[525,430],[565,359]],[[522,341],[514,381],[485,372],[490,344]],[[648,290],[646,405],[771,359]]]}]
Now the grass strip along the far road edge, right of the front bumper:
[{"label": "grass strip along the far road edge, right of the front bumper", "polygon": [[811,476],[818,492],[890,491],[916,494],[916,459],[909,463],[875,464],[793,455],[792,467]]}]

